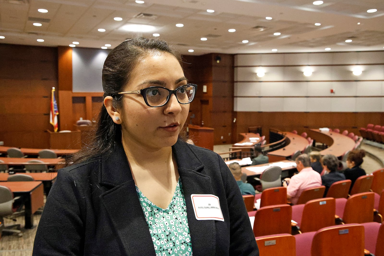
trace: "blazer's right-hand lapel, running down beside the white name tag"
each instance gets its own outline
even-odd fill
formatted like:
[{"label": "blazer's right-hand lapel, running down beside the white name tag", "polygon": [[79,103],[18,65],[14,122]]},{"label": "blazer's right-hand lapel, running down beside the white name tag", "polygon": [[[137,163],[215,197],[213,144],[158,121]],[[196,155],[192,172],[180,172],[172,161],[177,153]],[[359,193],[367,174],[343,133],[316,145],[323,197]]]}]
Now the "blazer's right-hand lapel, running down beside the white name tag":
[{"label": "blazer's right-hand lapel, running down beside the white name tag", "polygon": [[204,168],[194,153],[182,141],[174,146],[174,155],[184,191],[187,219],[194,255],[215,255],[216,229],[214,220],[197,220],[191,194],[212,194],[211,179],[200,173]]}]

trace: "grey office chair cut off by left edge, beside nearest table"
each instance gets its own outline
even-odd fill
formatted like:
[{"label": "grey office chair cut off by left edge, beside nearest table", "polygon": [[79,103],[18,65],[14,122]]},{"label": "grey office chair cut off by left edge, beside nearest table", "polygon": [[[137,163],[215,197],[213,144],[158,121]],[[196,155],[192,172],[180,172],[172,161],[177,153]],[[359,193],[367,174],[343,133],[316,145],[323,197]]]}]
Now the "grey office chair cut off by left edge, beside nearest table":
[{"label": "grey office chair cut off by left edge, beside nearest table", "polygon": [[[4,223],[4,217],[11,217],[15,214],[13,212],[13,198],[12,191],[6,186],[0,186],[0,222]],[[23,236],[22,231],[20,230],[20,224],[4,226],[2,232],[17,233],[18,236]]]}]

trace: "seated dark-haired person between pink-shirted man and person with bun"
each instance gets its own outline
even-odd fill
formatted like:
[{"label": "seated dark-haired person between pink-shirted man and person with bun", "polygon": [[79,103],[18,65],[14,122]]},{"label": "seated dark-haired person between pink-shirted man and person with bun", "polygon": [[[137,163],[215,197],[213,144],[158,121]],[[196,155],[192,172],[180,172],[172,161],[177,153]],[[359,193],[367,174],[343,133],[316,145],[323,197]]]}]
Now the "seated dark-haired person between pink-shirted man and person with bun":
[{"label": "seated dark-haired person between pink-shirted man and person with bun", "polygon": [[336,181],[346,180],[343,173],[337,171],[339,160],[334,155],[325,155],[321,158],[321,164],[326,174],[321,176],[322,185],[325,186],[324,196],[326,196],[329,187]]}]

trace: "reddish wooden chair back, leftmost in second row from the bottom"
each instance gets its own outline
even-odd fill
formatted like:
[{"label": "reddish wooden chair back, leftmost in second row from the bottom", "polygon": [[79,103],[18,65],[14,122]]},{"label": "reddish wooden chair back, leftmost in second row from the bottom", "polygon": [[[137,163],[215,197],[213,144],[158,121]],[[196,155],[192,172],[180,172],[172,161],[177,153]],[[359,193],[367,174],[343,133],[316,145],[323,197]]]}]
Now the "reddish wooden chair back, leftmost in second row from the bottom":
[{"label": "reddish wooden chair back, leftmost in second row from the bottom", "polygon": [[261,207],[256,211],[253,234],[266,236],[271,234],[291,233],[292,206],[278,204]]}]

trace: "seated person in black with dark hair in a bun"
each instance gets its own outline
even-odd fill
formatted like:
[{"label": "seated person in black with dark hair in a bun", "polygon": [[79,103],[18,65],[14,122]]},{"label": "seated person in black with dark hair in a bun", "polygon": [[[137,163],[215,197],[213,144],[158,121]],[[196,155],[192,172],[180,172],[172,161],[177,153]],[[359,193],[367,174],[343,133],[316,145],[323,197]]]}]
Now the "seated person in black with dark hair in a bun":
[{"label": "seated person in black with dark hair in a bun", "polygon": [[360,165],[363,162],[362,159],[364,158],[364,156],[365,156],[364,150],[352,150],[348,153],[347,161],[345,161],[347,163],[348,168],[344,170],[344,175],[345,175],[345,178],[352,181],[351,188],[349,191],[352,190],[352,187],[355,181],[357,180],[357,178],[359,178],[360,176],[366,175],[366,172],[364,171],[364,169],[360,167]]}]

